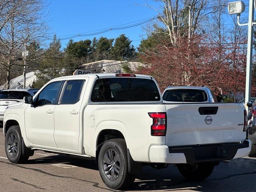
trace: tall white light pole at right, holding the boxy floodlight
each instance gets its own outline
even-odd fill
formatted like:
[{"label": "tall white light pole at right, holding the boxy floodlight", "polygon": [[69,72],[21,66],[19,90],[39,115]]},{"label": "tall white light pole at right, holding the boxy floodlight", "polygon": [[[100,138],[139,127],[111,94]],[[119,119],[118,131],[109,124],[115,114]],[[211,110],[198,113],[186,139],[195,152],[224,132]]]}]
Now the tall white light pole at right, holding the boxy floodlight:
[{"label": "tall white light pole at right, holding the boxy floodlight", "polygon": [[[254,0],[249,1],[249,20],[248,20],[248,42],[246,59],[246,85],[245,85],[245,104],[251,100],[252,82],[252,43],[253,43],[253,20],[254,20]],[[246,110],[248,110],[248,106]]]}]

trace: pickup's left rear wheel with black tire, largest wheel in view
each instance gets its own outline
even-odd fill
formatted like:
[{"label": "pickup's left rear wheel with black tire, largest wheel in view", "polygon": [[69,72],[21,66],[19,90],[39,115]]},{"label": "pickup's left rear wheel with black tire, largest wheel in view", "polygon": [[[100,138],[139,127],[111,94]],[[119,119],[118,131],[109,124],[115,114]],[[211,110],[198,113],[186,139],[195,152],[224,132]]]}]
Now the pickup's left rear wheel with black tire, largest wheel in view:
[{"label": "pickup's left rear wheel with black tire, largest wheel in view", "polygon": [[120,190],[133,184],[135,175],[128,172],[127,147],[124,139],[110,139],[102,145],[98,156],[98,168],[103,182],[111,189]]}]

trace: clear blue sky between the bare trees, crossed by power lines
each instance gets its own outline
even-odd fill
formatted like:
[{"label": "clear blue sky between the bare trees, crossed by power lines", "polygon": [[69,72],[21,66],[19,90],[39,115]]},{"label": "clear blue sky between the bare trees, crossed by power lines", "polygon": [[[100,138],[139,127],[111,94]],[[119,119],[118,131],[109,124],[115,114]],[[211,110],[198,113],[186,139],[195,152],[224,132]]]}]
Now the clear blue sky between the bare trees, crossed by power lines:
[{"label": "clear blue sky between the bare trees, crossed by power lines", "polygon": [[[110,28],[151,18],[157,12],[146,6],[145,3],[158,7],[159,4],[152,0],[48,0],[50,28],[53,34],[62,38],[64,35],[78,34],[93,30]],[[105,36],[116,38],[120,34],[126,34],[132,44],[138,46],[145,32],[142,26],[106,32],[96,35],[96,38]],[[94,36],[73,38],[74,41],[92,39]],[[62,47],[68,40],[62,40]]]}]

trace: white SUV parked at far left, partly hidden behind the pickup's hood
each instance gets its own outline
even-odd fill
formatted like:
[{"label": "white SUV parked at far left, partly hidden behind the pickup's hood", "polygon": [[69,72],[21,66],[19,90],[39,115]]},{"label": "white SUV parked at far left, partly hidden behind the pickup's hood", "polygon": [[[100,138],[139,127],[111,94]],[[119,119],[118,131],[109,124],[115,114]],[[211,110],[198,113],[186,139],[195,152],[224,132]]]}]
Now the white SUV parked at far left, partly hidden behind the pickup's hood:
[{"label": "white SUV parked at far left, partly hidden behind the pickup's hood", "polygon": [[4,111],[10,104],[23,102],[24,96],[34,95],[38,89],[6,89],[0,91],[0,124],[4,120]]}]

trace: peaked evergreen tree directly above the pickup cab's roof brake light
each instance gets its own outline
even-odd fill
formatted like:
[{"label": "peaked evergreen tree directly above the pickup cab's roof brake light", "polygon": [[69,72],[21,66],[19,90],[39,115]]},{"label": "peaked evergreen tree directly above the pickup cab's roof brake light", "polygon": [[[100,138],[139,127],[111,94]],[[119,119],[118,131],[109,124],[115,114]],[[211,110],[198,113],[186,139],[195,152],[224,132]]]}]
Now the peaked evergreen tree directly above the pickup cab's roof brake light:
[{"label": "peaked evergreen tree directly above the pickup cab's roof brake light", "polygon": [[111,50],[111,58],[113,60],[126,60],[136,55],[135,48],[131,45],[131,40],[121,34],[116,38],[114,46]]}]

